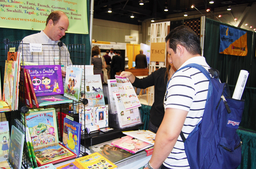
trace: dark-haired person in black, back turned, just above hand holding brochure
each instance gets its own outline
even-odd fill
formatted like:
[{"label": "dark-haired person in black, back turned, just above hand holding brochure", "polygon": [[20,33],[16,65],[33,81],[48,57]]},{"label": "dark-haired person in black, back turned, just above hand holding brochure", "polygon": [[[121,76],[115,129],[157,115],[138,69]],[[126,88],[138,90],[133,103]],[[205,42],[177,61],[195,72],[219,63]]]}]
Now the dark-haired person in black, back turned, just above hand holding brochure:
[{"label": "dark-haired person in black, back turned, just above hand holding brochure", "polygon": [[124,66],[123,58],[121,56],[121,52],[119,50],[115,51],[115,56],[113,56],[111,60],[111,79],[115,79],[116,72],[121,72],[124,70],[122,68]]}]

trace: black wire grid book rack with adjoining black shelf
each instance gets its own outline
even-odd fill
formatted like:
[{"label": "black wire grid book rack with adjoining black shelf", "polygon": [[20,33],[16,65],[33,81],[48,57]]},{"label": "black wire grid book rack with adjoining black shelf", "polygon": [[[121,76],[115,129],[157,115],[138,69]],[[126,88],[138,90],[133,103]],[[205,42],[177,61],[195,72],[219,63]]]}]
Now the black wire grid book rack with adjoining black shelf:
[{"label": "black wire grid book rack with adjoining black shelf", "polygon": [[[1,49],[2,48],[2,49]],[[79,67],[84,69],[85,68],[85,60],[90,58],[90,55],[85,53],[85,45],[84,44],[72,44],[72,45],[65,45],[61,41],[58,43],[58,45],[44,45],[42,44],[42,53],[40,52],[30,52],[29,44],[25,44],[20,41],[13,41],[10,42],[8,39],[4,41],[4,43],[0,44],[0,50],[4,51],[1,53],[5,53],[0,60],[0,70],[1,70],[1,78],[4,77],[4,66],[5,66],[5,60],[7,59],[7,53],[10,50],[10,48],[15,48],[15,52],[21,53],[21,64],[20,66],[29,64],[28,62],[36,63],[37,65],[60,65],[62,70],[62,81],[59,83],[63,83],[64,90],[67,90],[67,84],[65,83],[65,75],[66,70],[68,66],[73,67]],[[0,53],[0,55],[1,55]],[[39,55],[40,53],[40,55]],[[52,59],[53,58],[53,59]],[[24,71],[24,70],[21,70]],[[22,72],[22,76],[24,76],[24,72]],[[24,78],[24,77],[20,77]],[[31,77],[32,79],[33,77]],[[38,110],[41,108],[48,109],[48,108],[55,108],[56,110],[56,121],[57,121],[57,128],[54,129],[54,131],[58,131],[58,137],[59,141],[62,142],[63,139],[63,122],[66,115],[74,118],[74,121],[80,122],[81,119],[79,116],[79,111],[85,110],[85,106],[88,103],[87,99],[83,98],[84,92],[86,92],[86,83],[85,83],[85,71],[82,73],[82,79],[81,80],[81,88],[80,92],[76,93],[74,92],[70,93],[72,96],[78,98],[77,101],[74,99],[71,103],[55,103],[52,105],[46,105],[46,106],[40,106]],[[1,82],[3,84],[3,80],[1,79]],[[56,84],[52,84],[52,86],[55,86]],[[3,85],[2,85],[3,86]],[[19,86],[20,88],[23,88],[23,96],[25,91],[25,85]],[[47,87],[46,85],[41,84],[41,87]],[[97,90],[97,89],[95,89]],[[41,97],[41,96],[40,96]],[[33,108],[36,108],[35,106]],[[0,121],[3,118],[6,118],[7,121],[9,121],[9,128],[11,129],[11,125],[14,125],[18,129],[21,130],[22,133],[25,134],[25,137],[27,135],[27,130],[25,129],[25,124],[22,122],[23,117],[25,116],[28,111],[30,111],[32,108],[28,108],[25,104],[25,99],[23,101],[19,101],[18,109],[13,110],[6,113],[0,113]],[[111,112],[108,114],[111,114]],[[99,118],[99,117],[98,117]],[[113,120],[113,117],[108,118],[108,122]],[[127,127],[120,129],[117,126],[112,126],[111,122],[108,123],[108,127],[113,128],[113,130],[110,130],[108,132],[102,132],[99,131],[97,133],[91,133],[88,134],[86,130],[82,131],[80,136],[80,153],[79,157],[87,155],[85,152],[85,148],[89,148],[92,145],[99,144],[102,142],[110,141],[115,138],[119,138],[122,136],[125,136],[122,131],[130,131],[130,130],[138,130],[139,126],[141,124],[137,124],[132,127]],[[82,129],[85,129],[85,123],[82,122]],[[50,131],[50,130],[49,130]],[[22,165],[21,168],[28,169],[33,167],[33,164],[29,160],[28,156],[28,145],[24,143],[24,149],[23,149],[23,157],[22,157]]]}]

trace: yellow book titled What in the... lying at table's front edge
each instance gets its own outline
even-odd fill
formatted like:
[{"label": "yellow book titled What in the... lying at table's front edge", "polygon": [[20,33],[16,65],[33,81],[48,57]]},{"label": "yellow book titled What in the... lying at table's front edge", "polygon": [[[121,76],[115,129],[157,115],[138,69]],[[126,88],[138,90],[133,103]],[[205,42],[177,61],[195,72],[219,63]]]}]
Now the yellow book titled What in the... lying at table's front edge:
[{"label": "yellow book titled What in the... lying at table's front edge", "polygon": [[99,169],[114,169],[117,168],[117,166],[109,161],[107,158],[102,156],[100,153],[95,152],[90,155],[76,158],[76,161],[82,165],[84,168],[99,168]]}]

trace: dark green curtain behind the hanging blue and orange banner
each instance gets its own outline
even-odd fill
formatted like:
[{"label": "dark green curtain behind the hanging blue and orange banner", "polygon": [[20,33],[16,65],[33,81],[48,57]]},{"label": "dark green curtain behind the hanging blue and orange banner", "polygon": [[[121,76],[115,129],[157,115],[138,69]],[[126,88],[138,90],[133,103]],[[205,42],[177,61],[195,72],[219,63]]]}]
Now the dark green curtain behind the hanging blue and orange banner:
[{"label": "dark green curtain behind the hanging blue and orange banner", "polygon": [[[240,29],[247,32],[247,56],[224,55],[219,53],[220,48],[220,24]],[[204,57],[206,62],[214,69],[220,71],[221,82],[236,85],[240,70],[247,70],[250,74],[247,79],[247,87],[256,87],[256,58],[255,58],[255,33],[232,25],[223,24],[206,18]]]}]

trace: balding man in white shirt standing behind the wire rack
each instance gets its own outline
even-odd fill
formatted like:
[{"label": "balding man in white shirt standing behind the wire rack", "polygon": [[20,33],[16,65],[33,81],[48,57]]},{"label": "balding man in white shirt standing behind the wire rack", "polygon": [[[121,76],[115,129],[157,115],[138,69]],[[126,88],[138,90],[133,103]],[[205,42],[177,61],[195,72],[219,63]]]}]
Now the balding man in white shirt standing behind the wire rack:
[{"label": "balding man in white shirt standing behind the wire rack", "polygon": [[[39,65],[58,65],[64,67],[72,65],[70,55],[65,44],[61,47],[61,58],[58,42],[68,30],[68,17],[62,11],[53,11],[46,20],[46,27],[40,33],[23,38],[23,60]],[[30,43],[42,44],[42,52],[30,52]],[[22,48],[21,45],[19,48]],[[65,71],[65,70],[63,70]]]}]

